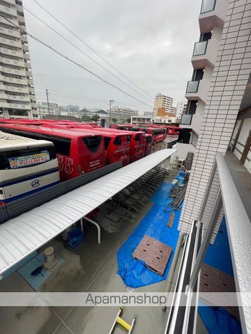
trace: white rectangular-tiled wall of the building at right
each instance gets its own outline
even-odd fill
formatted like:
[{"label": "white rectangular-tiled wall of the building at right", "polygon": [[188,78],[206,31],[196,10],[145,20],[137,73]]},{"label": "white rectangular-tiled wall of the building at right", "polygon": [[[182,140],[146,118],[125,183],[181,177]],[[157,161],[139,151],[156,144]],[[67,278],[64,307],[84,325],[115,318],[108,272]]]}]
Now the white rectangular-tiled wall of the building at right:
[{"label": "white rectangular-tiled wall of the building at right", "polygon": [[[218,0],[220,1],[220,0]],[[190,232],[199,216],[215,153],[225,154],[251,70],[251,0],[230,0],[185,195],[179,229]],[[215,178],[215,193],[219,187]],[[207,205],[210,212],[215,200]],[[204,216],[206,220],[206,216]]]}]

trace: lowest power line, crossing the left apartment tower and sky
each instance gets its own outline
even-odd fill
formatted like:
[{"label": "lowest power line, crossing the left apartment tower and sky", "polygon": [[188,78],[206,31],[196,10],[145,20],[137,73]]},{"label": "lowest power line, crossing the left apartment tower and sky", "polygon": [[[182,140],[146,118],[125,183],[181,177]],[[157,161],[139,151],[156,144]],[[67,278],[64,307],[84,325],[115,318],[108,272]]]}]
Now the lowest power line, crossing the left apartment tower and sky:
[{"label": "lowest power line, crossing the left apartment tower and sky", "polygon": [[[43,44],[45,47],[47,47],[48,49],[51,49],[52,51],[54,51],[56,54],[59,54],[59,56],[65,58],[66,60],[70,61],[70,63],[73,63],[75,65],[77,65],[78,67],[82,68],[82,70],[85,70],[86,72],[89,72],[90,74],[92,74],[94,77],[100,79],[101,81],[105,82],[105,84],[112,86],[113,88],[116,88],[117,90],[119,90],[121,93],[126,94],[130,97],[132,97],[132,99],[146,105],[149,106],[149,104],[146,104],[145,102],[137,99],[137,97],[134,97],[133,95],[125,92],[125,90],[115,86],[114,84],[111,84],[109,81],[102,79],[102,77],[100,77],[98,74],[92,72],[91,70],[88,70],[86,67],[80,65],[79,63],[77,63],[76,61],[73,61],[73,59],[68,58],[67,56],[65,56],[64,54],[62,54],[60,51],[54,49],[54,47],[51,47],[50,45],[47,45],[45,42],[43,42],[42,40],[40,40],[39,38],[37,38],[34,35],[31,35],[31,33],[28,33],[27,31],[24,31],[24,29],[20,28],[20,26],[17,26],[16,24],[14,24],[13,22],[10,21],[10,19],[8,19],[7,17],[4,17],[3,15],[0,15],[0,17],[3,17],[3,19],[5,19],[7,22],[9,22],[10,24],[13,24],[13,26],[15,26],[17,29],[20,29],[20,31],[23,31],[24,33],[26,33],[27,35],[29,35],[31,38],[33,38],[33,40],[36,40],[37,42],[39,42],[40,44]],[[152,108],[152,106],[149,106],[150,108]]]}]

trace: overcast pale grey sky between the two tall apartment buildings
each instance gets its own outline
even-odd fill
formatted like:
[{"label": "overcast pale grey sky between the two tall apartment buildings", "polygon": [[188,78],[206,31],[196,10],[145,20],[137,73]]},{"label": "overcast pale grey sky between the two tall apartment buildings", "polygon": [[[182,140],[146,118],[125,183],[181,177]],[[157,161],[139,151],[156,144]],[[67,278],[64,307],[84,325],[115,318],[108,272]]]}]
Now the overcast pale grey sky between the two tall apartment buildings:
[{"label": "overcast pale grey sky between the two tall apartment buildings", "polygon": [[146,92],[142,92],[130,81],[121,77],[121,74],[109,67],[33,0],[24,0],[24,8],[43,19],[128,86],[24,9],[28,33],[146,105],[108,86],[29,38],[31,66],[38,101],[45,101],[45,88],[50,92],[51,102],[60,105],[75,103],[81,107],[98,107],[105,110],[109,106],[109,100],[113,99],[116,105],[136,107],[143,113],[151,110],[152,97],[156,93],[172,96],[175,102],[185,100],[186,82],[192,76],[190,63],[192,49],[199,39],[198,15],[201,0],[36,1]]}]

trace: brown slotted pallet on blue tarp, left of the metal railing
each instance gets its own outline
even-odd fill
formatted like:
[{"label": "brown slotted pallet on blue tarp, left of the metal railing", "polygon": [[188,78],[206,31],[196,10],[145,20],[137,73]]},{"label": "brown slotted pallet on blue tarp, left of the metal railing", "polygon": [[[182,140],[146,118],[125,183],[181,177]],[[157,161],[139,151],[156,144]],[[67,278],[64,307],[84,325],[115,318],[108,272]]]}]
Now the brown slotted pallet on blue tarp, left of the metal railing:
[{"label": "brown slotted pallet on blue tarp, left of the metal railing", "polygon": [[147,268],[163,276],[171,253],[172,247],[145,235],[132,257],[143,261]]}]

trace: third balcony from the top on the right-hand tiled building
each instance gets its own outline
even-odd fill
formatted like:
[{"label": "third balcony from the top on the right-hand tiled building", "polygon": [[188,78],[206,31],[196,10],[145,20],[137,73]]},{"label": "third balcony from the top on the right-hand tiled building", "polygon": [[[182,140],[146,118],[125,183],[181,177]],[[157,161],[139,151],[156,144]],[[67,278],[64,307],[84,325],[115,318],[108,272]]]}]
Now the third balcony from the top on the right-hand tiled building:
[{"label": "third balcony from the top on the right-hand tiled building", "polygon": [[206,103],[209,86],[209,82],[204,79],[188,81],[185,97],[188,100],[201,100]]}]

